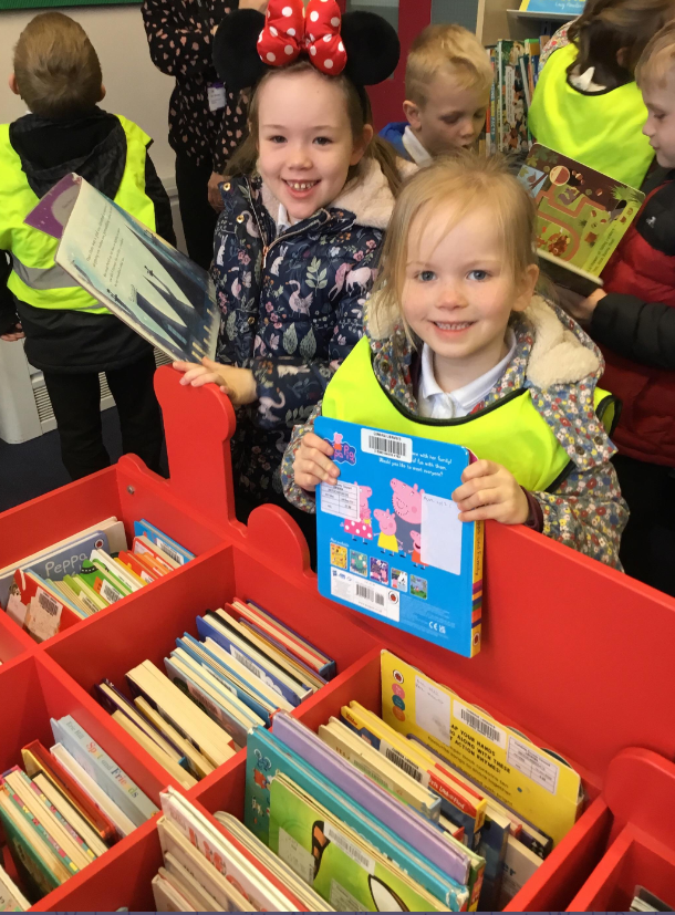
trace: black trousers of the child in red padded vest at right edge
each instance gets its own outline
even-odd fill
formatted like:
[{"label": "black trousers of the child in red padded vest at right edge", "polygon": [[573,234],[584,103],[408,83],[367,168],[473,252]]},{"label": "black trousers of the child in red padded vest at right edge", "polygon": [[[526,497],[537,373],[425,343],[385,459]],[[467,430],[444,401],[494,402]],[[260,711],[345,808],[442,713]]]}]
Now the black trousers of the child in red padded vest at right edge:
[{"label": "black trousers of the child in red padded vest at right edge", "polygon": [[629,575],[675,596],[675,470],[615,455],[631,517],[620,559]]}]

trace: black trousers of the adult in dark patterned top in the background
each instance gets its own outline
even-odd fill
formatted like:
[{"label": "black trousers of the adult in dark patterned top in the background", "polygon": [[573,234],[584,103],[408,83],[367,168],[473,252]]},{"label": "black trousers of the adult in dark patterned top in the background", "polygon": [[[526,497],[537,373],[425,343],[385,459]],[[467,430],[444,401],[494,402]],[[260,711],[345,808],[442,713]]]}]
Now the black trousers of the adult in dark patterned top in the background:
[{"label": "black trousers of the adult in dark patterned top in the background", "polygon": [[208,201],[211,167],[195,165],[187,156],[176,154],[176,188],[178,206],[190,258],[208,270],[214,259],[214,233],[218,214]]}]

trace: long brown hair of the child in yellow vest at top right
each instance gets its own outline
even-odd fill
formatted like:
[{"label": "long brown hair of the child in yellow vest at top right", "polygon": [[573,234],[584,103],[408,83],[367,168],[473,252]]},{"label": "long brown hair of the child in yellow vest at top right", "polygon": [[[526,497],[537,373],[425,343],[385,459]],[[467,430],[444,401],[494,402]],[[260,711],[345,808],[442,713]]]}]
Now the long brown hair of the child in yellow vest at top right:
[{"label": "long brown hair of the child in yellow vest at top right", "polygon": [[588,0],[568,32],[579,49],[568,73],[584,73],[594,66],[594,83],[613,89],[631,82],[650,39],[674,14],[673,0]]}]

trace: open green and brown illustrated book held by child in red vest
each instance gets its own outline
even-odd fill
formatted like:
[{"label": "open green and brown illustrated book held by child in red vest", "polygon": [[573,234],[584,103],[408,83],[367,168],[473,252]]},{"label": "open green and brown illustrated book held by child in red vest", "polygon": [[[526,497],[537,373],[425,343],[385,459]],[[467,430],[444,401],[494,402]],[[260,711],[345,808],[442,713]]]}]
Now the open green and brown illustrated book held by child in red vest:
[{"label": "open green and brown illustrated book held by child in red vest", "polygon": [[[536,143],[518,175],[537,202],[537,248],[555,282],[588,292],[624,237],[644,194]],[[561,275],[562,274],[562,275]],[[571,285],[571,288],[575,288]],[[586,291],[588,290],[588,291]]]}]

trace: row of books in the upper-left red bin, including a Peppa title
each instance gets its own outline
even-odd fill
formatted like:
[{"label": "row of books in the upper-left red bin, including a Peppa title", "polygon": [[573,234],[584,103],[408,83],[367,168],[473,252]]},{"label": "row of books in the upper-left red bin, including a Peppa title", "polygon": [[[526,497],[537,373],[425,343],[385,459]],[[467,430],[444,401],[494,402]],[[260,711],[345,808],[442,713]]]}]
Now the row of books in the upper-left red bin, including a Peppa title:
[{"label": "row of books in the upper-left red bin, including a Peppa title", "polygon": [[108,518],[0,570],[0,605],[37,642],[152,584],[195,557],[145,519],[131,550]]}]

